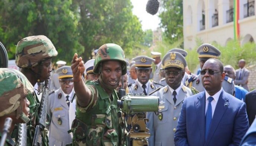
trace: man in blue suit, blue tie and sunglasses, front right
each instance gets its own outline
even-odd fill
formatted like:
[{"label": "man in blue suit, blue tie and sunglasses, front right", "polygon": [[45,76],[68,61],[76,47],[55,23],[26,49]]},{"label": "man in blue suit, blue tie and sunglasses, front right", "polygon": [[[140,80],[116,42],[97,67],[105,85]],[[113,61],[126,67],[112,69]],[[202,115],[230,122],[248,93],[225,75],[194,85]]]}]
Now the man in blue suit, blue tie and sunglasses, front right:
[{"label": "man in blue suit, blue tie and sunglasses, front right", "polygon": [[239,145],[249,128],[245,103],[221,87],[225,73],[220,60],[208,59],[201,75],[205,91],[184,100],[174,135],[175,145]]}]

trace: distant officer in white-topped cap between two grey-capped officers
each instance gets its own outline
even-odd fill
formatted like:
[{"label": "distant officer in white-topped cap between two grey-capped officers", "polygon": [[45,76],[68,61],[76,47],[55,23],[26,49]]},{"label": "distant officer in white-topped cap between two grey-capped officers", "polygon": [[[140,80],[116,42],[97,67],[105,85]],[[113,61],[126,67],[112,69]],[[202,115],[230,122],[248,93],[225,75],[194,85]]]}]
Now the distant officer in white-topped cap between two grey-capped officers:
[{"label": "distant officer in white-topped cap between two grey-capped officers", "polygon": [[160,68],[161,68],[161,53],[159,52],[151,52],[152,58],[155,60],[154,64],[156,64],[156,69],[154,72],[153,81],[159,83],[161,80],[160,76]]}]

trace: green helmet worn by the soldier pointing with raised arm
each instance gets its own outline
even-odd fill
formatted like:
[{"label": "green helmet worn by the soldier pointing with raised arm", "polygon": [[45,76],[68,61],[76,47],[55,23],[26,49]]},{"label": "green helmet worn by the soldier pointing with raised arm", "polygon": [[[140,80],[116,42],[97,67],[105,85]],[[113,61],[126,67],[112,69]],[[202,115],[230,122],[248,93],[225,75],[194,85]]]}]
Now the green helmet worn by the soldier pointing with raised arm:
[{"label": "green helmet worn by the soldier pointing with raised arm", "polygon": [[95,57],[94,61],[94,73],[99,73],[99,64],[107,60],[117,60],[122,63],[122,75],[126,74],[126,61],[123,49],[117,44],[103,44]]}]

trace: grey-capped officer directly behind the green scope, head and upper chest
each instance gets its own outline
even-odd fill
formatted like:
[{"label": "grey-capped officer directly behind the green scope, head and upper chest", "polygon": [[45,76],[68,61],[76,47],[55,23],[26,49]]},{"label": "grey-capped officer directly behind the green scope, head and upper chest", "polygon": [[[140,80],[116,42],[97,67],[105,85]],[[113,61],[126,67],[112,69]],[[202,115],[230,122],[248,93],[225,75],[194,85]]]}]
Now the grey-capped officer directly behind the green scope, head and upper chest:
[{"label": "grey-capped officer directly behind the green scope, head and upper chest", "polygon": [[129,93],[132,95],[148,95],[158,87],[156,83],[149,80],[150,73],[152,72],[151,64],[155,60],[147,56],[138,56],[132,60],[135,61],[137,80],[132,86],[129,86]]}]

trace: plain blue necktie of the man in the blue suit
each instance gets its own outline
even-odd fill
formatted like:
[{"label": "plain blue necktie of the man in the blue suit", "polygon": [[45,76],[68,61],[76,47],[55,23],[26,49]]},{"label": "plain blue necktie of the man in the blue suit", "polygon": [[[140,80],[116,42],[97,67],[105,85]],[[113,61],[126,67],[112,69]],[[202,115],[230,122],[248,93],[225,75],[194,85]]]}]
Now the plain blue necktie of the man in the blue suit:
[{"label": "plain blue necktie of the man in the blue suit", "polygon": [[206,115],[205,115],[205,141],[207,140],[207,136],[209,133],[211,120],[212,120],[212,105],[211,105],[212,100],[213,100],[213,97],[209,96],[208,97],[208,108],[207,108]]}]

